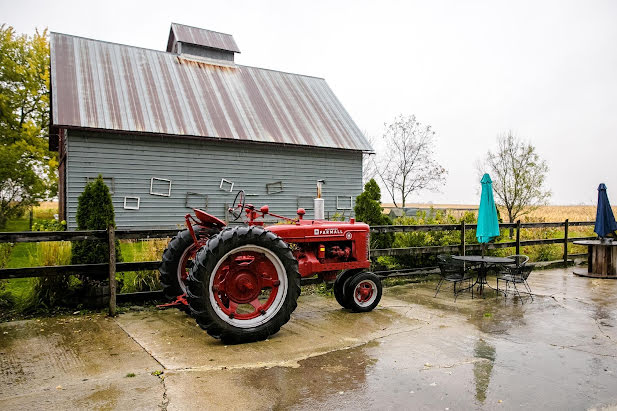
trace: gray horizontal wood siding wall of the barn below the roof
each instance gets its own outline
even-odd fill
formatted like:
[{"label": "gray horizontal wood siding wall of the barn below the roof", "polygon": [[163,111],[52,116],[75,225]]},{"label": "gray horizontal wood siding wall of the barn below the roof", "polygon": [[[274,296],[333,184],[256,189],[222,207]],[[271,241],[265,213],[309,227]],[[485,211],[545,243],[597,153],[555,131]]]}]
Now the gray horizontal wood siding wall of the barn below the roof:
[{"label": "gray horizontal wood siding wall of the barn below the roof", "polygon": [[[326,217],[337,212],[336,197],[362,191],[362,156],[357,151],[324,150],[255,143],[188,140],[69,131],[67,141],[67,221],[77,228],[77,198],[88,178],[114,179],[113,204],[119,228],[175,228],[191,212],[187,192],[207,195],[207,211],[225,218],[226,205],[239,189],[247,202],[268,204],[276,214],[295,217],[297,198],[314,197],[323,179]],[[150,179],[172,181],[171,196],[150,194]],[[233,193],[219,188],[234,182]],[[266,194],[266,184],[282,181],[283,191]],[[139,210],[124,209],[124,198],[139,197]],[[193,201],[191,201],[193,202]],[[312,201],[311,201],[312,204]],[[202,207],[203,208],[203,207]],[[339,212],[341,212],[339,210]],[[346,210],[349,217],[352,210]],[[307,210],[306,218],[313,211]]]}]

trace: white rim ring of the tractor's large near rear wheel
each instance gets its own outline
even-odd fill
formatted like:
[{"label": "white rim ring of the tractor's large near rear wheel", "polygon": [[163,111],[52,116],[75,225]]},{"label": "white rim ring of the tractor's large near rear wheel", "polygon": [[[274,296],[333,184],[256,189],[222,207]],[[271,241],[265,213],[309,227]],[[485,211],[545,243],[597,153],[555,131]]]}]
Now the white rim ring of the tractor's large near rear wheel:
[{"label": "white rim ring of the tractor's large near rear wheel", "polygon": [[[278,292],[276,294],[276,297],[274,301],[272,302],[272,304],[270,305],[270,307],[268,307],[268,309],[266,310],[265,314],[260,315],[259,317],[251,318],[251,319],[239,320],[236,318],[230,318],[229,315],[227,315],[219,307],[219,304],[214,297],[214,292],[212,291],[212,287],[214,286],[215,274],[218,272],[221,264],[227,259],[227,257],[229,257],[231,254],[235,254],[235,253],[239,253],[243,251],[253,251],[253,252],[264,254],[264,256],[268,260],[270,260],[270,262],[276,269],[277,277],[278,277],[278,280],[280,281],[280,284],[278,286]],[[208,296],[210,299],[210,305],[214,309],[214,312],[216,313],[216,315],[221,320],[225,321],[226,323],[230,325],[233,325],[234,327],[238,327],[238,328],[258,327],[270,321],[280,311],[281,307],[283,306],[283,303],[285,302],[285,298],[287,297],[287,273],[285,271],[285,266],[283,265],[281,260],[278,258],[278,256],[274,254],[272,251],[268,250],[267,248],[260,247],[257,245],[244,245],[238,248],[234,248],[233,250],[225,254],[223,257],[221,257],[219,261],[216,263],[216,266],[214,267],[214,269],[212,270],[212,273],[210,274],[210,280],[208,282]]]}]

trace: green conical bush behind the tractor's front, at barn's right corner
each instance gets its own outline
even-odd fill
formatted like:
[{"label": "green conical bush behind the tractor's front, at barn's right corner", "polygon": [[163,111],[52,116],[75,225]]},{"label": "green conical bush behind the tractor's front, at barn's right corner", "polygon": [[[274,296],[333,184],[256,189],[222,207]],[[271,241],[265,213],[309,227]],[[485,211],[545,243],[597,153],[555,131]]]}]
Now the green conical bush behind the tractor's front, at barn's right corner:
[{"label": "green conical bush behind the tractor's front, at barn's right corner", "polygon": [[[364,185],[364,191],[356,197],[354,207],[356,220],[368,225],[392,225],[390,217],[383,214],[381,208],[381,190],[375,179],[371,178]],[[394,233],[371,235],[371,248],[390,248],[394,241]]]}]

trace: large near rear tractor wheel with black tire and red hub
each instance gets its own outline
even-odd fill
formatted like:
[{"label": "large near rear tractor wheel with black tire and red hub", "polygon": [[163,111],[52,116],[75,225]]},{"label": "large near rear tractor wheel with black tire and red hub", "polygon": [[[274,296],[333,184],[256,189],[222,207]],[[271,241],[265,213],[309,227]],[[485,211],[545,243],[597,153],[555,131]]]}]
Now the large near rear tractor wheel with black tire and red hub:
[{"label": "large near rear tractor wheel with black tire and red hub", "polygon": [[278,332],[300,295],[291,249],[260,226],[228,228],[212,237],[197,253],[187,284],[199,326],[228,344]]}]

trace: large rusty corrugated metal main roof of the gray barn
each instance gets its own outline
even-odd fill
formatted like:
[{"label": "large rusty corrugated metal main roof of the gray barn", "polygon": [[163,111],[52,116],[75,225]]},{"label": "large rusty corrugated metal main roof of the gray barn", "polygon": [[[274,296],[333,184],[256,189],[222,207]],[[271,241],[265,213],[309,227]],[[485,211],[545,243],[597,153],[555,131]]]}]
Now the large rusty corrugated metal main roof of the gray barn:
[{"label": "large rusty corrugated metal main roof of the gray barn", "polygon": [[52,126],[372,151],[321,78],[51,33]]}]

